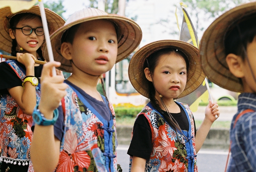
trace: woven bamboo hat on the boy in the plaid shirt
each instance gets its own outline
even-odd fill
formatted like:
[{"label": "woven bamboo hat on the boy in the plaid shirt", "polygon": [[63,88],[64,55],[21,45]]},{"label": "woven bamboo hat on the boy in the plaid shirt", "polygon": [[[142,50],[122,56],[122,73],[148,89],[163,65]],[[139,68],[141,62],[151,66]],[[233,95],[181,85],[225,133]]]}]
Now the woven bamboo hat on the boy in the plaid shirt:
[{"label": "woven bamboo hat on the boy in the plaid shirt", "polygon": [[200,44],[200,56],[207,78],[230,91],[243,92],[243,86],[228,68],[224,38],[230,27],[252,13],[256,13],[256,2],[237,6],[218,17],[204,32]]}]

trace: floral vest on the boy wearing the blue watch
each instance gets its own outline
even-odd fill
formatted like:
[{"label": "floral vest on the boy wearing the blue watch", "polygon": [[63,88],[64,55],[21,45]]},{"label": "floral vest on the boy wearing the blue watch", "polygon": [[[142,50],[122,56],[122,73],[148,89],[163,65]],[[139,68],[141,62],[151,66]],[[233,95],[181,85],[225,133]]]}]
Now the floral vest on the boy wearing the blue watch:
[{"label": "floral vest on the boy wearing the blue watch", "polygon": [[[116,172],[116,119],[114,108],[108,122],[84,97],[70,86],[62,100],[64,136],[56,172]],[[106,102],[106,98],[103,97]],[[107,104],[106,104],[107,105]],[[107,105],[108,106],[108,105]],[[109,110],[106,113],[110,113]]]}]

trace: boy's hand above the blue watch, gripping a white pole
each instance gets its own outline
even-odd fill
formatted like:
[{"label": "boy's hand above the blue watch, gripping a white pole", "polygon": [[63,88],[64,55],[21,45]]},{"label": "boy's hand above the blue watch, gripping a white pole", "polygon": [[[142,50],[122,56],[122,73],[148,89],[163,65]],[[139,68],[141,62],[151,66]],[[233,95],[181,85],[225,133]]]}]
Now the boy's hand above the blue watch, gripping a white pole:
[{"label": "boy's hand above the blue watch, gripping a white pole", "polygon": [[58,108],[61,99],[66,95],[68,86],[63,83],[63,75],[52,76],[52,68],[59,66],[60,62],[48,62],[43,65],[41,75],[41,101],[38,109],[49,119],[52,119],[53,110]]}]

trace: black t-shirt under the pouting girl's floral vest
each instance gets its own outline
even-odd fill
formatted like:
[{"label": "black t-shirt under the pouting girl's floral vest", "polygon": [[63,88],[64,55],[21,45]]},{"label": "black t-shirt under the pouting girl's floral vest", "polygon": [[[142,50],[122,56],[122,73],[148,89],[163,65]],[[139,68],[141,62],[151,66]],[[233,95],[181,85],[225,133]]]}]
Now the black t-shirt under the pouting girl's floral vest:
[{"label": "black t-shirt under the pouting girl's floral vest", "polygon": [[[177,104],[177,103],[176,103]],[[174,119],[177,121],[181,130],[189,130],[189,121],[185,111],[182,109],[180,104],[177,104],[180,107],[180,113],[171,113]],[[170,117],[166,111],[162,114],[164,118],[170,125]],[[195,135],[196,135],[196,124],[195,126]],[[127,154],[130,156],[137,156],[143,159],[149,159],[151,152],[153,150],[152,145],[152,132],[148,120],[144,115],[139,115],[133,126],[133,138],[130,143]]]}]

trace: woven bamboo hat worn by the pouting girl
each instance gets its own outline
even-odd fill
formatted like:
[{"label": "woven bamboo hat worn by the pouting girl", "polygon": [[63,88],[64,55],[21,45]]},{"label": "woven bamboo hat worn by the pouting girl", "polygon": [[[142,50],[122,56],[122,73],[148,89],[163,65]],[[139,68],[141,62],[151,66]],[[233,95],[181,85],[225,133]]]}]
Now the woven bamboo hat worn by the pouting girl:
[{"label": "woven bamboo hat worn by the pouting girl", "polygon": [[151,42],[140,48],[132,57],[129,63],[129,79],[135,90],[140,94],[149,98],[148,85],[146,84],[146,76],[143,69],[145,59],[152,53],[163,48],[176,48],[182,51],[188,58],[190,63],[187,75],[187,84],[184,91],[177,98],[184,97],[196,90],[204,81],[205,74],[201,68],[199,59],[199,51],[193,45],[180,40],[160,40]]}]

